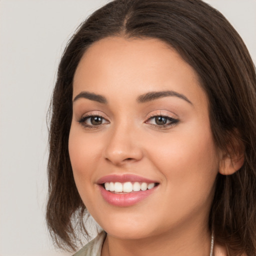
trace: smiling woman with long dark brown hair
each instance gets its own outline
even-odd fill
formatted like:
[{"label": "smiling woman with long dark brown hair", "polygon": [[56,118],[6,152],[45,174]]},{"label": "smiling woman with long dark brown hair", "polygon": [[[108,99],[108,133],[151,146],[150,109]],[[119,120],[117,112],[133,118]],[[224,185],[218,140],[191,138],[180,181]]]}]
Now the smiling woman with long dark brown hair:
[{"label": "smiling woman with long dark brown hair", "polygon": [[52,96],[47,224],[75,255],[255,255],[256,78],[200,0],[115,0],[69,41]]}]

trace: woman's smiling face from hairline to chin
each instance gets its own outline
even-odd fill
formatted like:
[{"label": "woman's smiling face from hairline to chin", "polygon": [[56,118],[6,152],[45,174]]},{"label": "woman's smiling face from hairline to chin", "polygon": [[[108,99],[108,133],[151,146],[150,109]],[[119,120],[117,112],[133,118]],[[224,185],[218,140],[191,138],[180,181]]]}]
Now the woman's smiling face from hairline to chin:
[{"label": "woman's smiling face from hairline to chin", "polygon": [[79,194],[108,234],[207,227],[219,165],[207,98],[193,68],[160,40],[108,37],[86,50],[73,80],[69,155]]}]

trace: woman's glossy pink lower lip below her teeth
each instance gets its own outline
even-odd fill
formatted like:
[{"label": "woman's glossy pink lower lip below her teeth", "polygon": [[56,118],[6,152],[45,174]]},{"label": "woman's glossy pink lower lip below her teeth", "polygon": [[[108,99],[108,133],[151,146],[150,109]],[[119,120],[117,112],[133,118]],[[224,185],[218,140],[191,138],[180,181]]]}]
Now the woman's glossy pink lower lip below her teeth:
[{"label": "woman's glossy pink lower lip below her teeth", "polygon": [[131,206],[134,205],[143,199],[145,199],[147,196],[149,196],[157,186],[154,186],[151,189],[147,189],[145,191],[133,191],[130,193],[112,193],[110,191],[107,191],[102,185],[98,185],[100,193],[104,200],[108,202],[109,204],[125,207],[125,206]]}]

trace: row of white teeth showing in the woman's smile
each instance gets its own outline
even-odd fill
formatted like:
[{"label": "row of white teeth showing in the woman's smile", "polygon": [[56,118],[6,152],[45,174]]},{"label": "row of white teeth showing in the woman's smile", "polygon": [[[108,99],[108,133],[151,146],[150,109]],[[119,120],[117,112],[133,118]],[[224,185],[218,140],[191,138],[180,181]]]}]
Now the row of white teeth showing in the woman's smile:
[{"label": "row of white teeth showing in the woman's smile", "polygon": [[146,182],[105,182],[105,189],[111,192],[125,192],[129,193],[131,191],[145,191],[146,189],[151,189],[155,186],[155,183],[146,183]]}]

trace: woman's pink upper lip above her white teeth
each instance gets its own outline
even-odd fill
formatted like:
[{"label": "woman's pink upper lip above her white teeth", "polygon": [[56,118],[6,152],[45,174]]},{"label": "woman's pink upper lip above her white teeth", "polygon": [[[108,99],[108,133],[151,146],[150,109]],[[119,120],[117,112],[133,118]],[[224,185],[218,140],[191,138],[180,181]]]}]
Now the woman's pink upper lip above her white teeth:
[{"label": "woman's pink upper lip above her white teeth", "polygon": [[101,178],[99,178],[97,180],[97,184],[103,184],[105,182],[146,182],[146,183],[157,183],[157,181],[152,180],[152,179],[148,179],[145,177],[141,177],[138,175],[134,175],[134,174],[122,174],[122,175],[118,175],[118,174],[110,174],[110,175],[105,175]]}]

